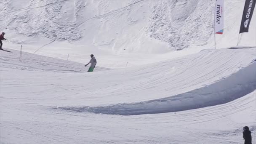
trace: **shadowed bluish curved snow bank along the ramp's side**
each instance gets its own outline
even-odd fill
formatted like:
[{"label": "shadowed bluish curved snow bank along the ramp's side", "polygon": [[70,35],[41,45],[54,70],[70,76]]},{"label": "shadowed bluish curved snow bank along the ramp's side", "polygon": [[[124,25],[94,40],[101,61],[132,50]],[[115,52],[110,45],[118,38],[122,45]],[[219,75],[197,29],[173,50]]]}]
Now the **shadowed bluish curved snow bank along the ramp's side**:
[{"label": "shadowed bluish curved snow bank along the ramp's side", "polygon": [[[185,93],[177,95],[171,95],[169,97],[161,99],[152,99],[148,101],[133,103],[111,104],[107,106],[104,105],[97,107],[58,107],[58,109],[68,109],[75,112],[140,115],[163,112],[176,112],[188,109],[208,107],[217,104],[224,104],[234,99],[245,96],[246,94],[251,93],[256,89],[256,62],[253,61],[255,61],[255,59],[253,59],[251,61],[252,63],[247,67],[240,69],[238,72],[233,73],[228,77],[223,77],[215,83],[204,86],[202,85],[200,88],[196,88],[192,91],[187,91]],[[225,67],[228,70],[229,67]],[[215,69],[218,70],[219,67],[215,67]],[[190,69],[187,69],[186,71],[189,70]],[[148,89],[148,91],[152,90]]]}]

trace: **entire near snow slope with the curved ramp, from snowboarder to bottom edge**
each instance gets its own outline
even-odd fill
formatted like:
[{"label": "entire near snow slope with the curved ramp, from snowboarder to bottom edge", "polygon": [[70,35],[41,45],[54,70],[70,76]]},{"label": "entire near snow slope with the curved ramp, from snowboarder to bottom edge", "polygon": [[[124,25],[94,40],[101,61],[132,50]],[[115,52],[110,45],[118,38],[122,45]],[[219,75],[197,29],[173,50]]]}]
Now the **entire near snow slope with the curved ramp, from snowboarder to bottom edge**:
[{"label": "entire near snow slope with the curved ramp, from snowboarder to bottom edge", "polygon": [[[7,144],[239,144],[244,125],[255,135],[255,56],[254,48],[205,50],[144,67],[94,73],[63,73],[57,71],[58,67],[55,72],[1,67],[0,140]],[[10,67],[17,63],[15,59],[5,60]],[[51,59],[55,64],[58,61]],[[22,62],[18,64],[23,67]],[[30,65],[38,64],[34,61]],[[207,90],[209,87],[213,93]],[[219,91],[223,88],[226,91]],[[216,97],[216,92],[221,97]],[[241,95],[232,97],[237,92]],[[182,93],[194,96],[179,95]],[[166,106],[166,99],[174,102],[171,106],[177,104],[176,108],[188,107],[184,100],[195,105],[196,101],[231,102],[150,115],[92,113],[96,108],[99,111],[95,113],[108,109],[112,114],[123,108],[126,112],[141,110],[136,107],[159,110]],[[136,106],[136,102],[141,104]],[[116,104],[118,109],[109,109]]]}]

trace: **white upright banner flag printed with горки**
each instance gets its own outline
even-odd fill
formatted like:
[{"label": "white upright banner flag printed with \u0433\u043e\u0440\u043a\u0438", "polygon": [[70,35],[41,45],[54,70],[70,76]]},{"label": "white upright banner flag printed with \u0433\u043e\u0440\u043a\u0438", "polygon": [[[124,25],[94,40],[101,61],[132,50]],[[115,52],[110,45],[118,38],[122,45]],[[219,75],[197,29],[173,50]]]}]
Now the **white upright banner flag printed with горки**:
[{"label": "white upright banner flag printed with \u0433\u043e\u0440\u043a\u0438", "polygon": [[214,25],[215,25],[215,33],[223,34],[224,29],[224,0],[216,0],[215,5],[215,16],[214,16]]}]

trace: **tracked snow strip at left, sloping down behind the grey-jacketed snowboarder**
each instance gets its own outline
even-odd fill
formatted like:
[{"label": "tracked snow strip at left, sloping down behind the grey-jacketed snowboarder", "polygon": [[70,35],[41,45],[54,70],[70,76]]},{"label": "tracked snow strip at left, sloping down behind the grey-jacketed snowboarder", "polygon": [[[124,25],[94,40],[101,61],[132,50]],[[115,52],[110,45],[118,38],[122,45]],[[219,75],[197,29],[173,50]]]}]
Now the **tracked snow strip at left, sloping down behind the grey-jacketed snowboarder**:
[{"label": "tracked snow strip at left, sloping down behind the grey-jacketed snowboarder", "polygon": [[[8,50],[8,49],[7,49]],[[1,68],[22,69],[30,71],[43,71],[43,72],[87,72],[88,67],[84,67],[84,64],[79,64],[72,61],[65,61],[61,59],[54,59],[51,57],[40,56],[37,54],[31,54],[22,52],[21,61],[19,59],[20,51],[10,50],[11,53],[1,51]],[[109,70],[109,68],[96,67],[95,71]]]}]

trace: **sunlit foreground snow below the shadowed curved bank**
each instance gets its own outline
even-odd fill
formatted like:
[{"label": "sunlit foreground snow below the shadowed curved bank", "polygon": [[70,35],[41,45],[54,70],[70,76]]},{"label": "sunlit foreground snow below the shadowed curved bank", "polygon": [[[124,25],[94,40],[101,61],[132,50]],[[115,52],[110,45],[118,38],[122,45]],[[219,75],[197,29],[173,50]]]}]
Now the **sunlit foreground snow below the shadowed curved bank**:
[{"label": "sunlit foreground snow below the shadowed curved bank", "polygon": [[[256,129],[256,92],[227,104],[184,112],[118,116],[71,113],[17,104],[1,104],[4,144],[241,144],[242,128]],[[16,99],[17,100],[17,99]],[[253,141],[255,141],[253,137]]]}]

